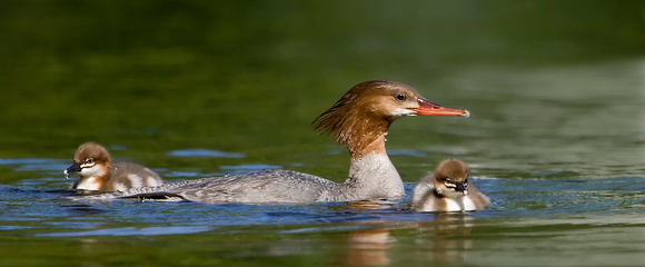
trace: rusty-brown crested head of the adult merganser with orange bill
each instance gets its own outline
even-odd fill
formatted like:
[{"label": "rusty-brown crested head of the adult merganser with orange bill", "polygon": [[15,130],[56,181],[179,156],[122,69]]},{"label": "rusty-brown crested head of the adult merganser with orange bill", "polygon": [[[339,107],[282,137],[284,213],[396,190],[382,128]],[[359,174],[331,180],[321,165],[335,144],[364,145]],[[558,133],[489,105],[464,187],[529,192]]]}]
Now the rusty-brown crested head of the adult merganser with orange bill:
[{"label": "rusty-brown crested head of the adult merganser with orange bill", "polygon": [[387,129],[395,120],[417,115],[467,118],[470,113],[434,103],[409,86],[373,80],[349,89],[314,120],[314,128],[336,137],[336,141],[346,145],[351,157],[357,158],[376,150],[385,152],[385,144],[381,149],[374,142],[385,142]]}]

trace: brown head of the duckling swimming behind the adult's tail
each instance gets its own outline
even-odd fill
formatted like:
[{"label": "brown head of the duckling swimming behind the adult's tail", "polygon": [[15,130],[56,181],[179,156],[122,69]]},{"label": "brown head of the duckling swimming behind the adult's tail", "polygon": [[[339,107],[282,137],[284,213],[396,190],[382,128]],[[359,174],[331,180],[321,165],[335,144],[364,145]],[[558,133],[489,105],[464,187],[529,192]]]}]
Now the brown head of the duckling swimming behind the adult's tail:
[{"label": "brown head of the duckling swimming behind the adult's tail", "polygon": [[63,174],[78,172],[81,177],[105,176],[110,167],[110,154],[96,142],[81,145],[73,155],[73,164]]}]

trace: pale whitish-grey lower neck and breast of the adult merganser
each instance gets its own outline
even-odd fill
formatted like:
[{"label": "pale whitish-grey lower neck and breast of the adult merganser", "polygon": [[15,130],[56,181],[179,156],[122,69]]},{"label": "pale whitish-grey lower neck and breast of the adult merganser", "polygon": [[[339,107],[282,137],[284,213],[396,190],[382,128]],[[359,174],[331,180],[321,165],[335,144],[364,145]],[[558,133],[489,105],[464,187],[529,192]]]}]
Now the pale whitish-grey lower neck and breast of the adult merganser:
[{"label": "pale whitish-grey lower neck and breast of the adult merganser", "polygon": [[349,177],[343,187],[357,199],[397,199],[405,196],[403,180],[396,168],[386,154],[379,152],[351,160]]}]

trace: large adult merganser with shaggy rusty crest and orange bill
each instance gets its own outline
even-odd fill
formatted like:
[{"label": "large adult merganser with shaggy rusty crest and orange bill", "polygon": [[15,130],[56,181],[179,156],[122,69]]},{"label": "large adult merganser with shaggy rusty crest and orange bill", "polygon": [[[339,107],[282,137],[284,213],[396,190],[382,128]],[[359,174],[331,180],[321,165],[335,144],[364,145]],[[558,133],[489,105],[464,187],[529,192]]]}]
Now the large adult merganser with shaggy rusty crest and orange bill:
[{"label": "large adult merganser with shaggy rusty crest and orange bill", "polygon": [[387,129],[395,120],[416,115],[469,116],[467,110],[430,102],[403,83],[365,81],[351,88],[314,120],[316,130],[336,137],[349,150],[351,164],[345,182],[294,170],[261,170],[136,188],[98,197],[246,204],[398,199],[404,197],[405,191],[385,151]]}]

